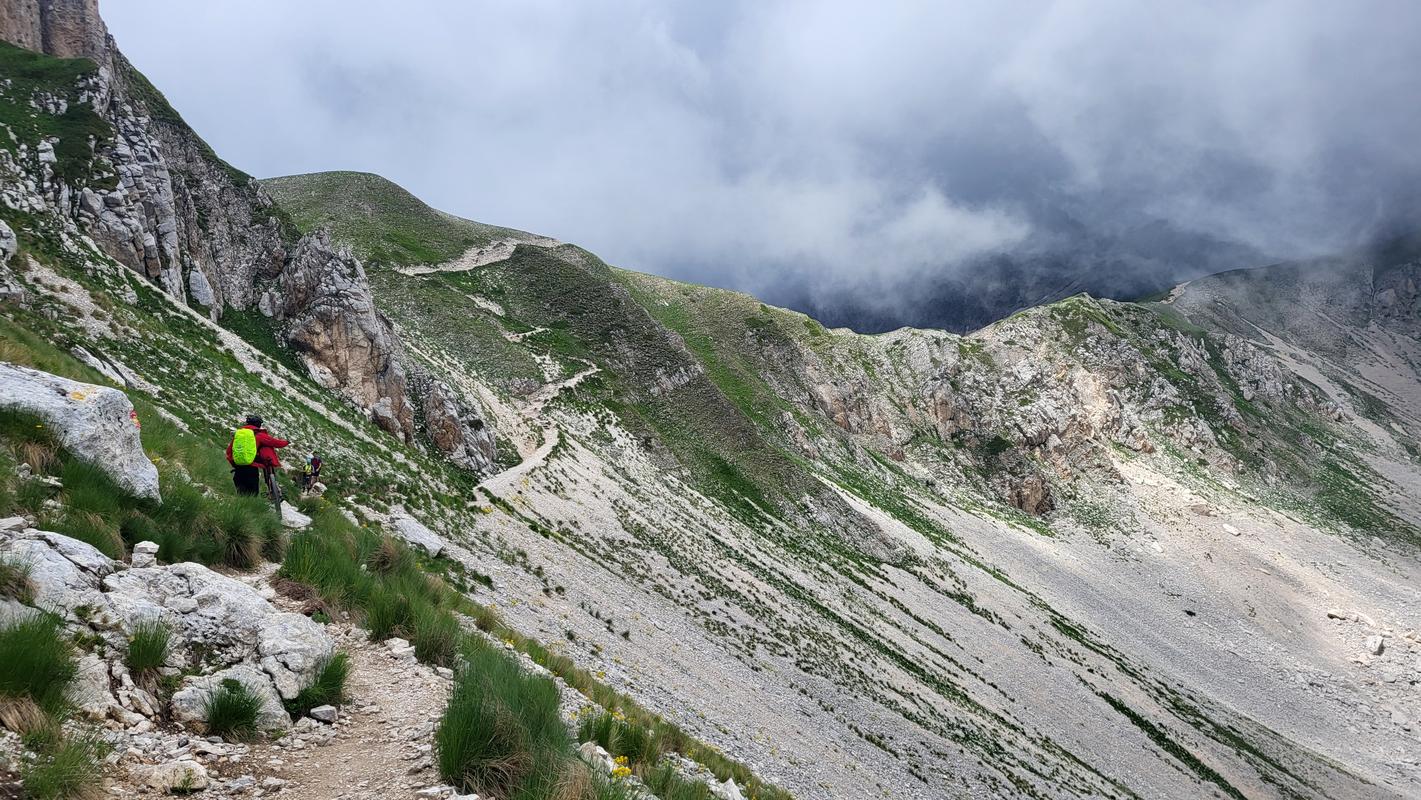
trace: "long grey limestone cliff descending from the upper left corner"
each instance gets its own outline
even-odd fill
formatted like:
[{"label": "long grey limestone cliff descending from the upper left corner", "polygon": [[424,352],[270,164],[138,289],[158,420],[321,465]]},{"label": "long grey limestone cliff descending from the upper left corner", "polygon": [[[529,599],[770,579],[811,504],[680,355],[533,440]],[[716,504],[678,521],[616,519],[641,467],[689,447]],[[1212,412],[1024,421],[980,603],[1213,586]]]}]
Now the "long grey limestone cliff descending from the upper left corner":
[{"label": "long grey limestone cliff descending from the upper left corner", "polygon": [[94,63],[75,70],[72,85],[7,90],[11,102],[58,121],[84,115],[88,126],[71,132],[55,122],[55,135],[38,131],[33,146],[0,153],[10,176],[0,202],[57,212],[213,320],[259,306],[317,384],[381,428],[404,440],[425,429],[425,443],[470,469],[492,462],[493,429],[476,399],[431,379],[421,381],[429,392],[411,396],[409,378],[423,368],[375,310],[364,266],[333,252],[324,234],[301,236],[256,180],[217,158],[124,58],[94,0],[6,4],[0,37]]}]

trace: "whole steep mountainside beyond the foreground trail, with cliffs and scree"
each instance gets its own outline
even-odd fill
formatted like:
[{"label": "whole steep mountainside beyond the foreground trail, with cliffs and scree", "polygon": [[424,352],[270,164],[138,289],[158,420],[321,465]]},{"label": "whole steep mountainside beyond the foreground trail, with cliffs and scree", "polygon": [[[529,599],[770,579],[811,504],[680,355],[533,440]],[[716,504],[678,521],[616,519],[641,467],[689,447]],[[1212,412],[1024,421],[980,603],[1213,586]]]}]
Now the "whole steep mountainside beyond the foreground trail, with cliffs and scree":
[{"label": "whole steep mountainside beyond the foreground trail, with cliffs and scree", "polygon": [[[55,7],[91,9],[23,30]],[[261,409],[799,797],[1421,793],[1407,253],[858,335],[374,176],[249,180],[104,41],[0,51],[0,352],[213,438]]]}]

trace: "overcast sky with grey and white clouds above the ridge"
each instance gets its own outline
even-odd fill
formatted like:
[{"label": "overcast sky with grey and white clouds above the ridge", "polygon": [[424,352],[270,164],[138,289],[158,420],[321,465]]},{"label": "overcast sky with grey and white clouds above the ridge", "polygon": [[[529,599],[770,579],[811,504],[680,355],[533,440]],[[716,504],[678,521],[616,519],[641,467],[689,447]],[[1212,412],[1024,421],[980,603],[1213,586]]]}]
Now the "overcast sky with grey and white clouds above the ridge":
[{"label": "overcast sky with grey and white clouds above the ridge", "polygon": [[752,291],[894,291],[1043,232],[1151,220],[1320,253],[1414,210],[1421,178],[1411,0],[102,11],[247,172],[378,172],[462,216]]}]

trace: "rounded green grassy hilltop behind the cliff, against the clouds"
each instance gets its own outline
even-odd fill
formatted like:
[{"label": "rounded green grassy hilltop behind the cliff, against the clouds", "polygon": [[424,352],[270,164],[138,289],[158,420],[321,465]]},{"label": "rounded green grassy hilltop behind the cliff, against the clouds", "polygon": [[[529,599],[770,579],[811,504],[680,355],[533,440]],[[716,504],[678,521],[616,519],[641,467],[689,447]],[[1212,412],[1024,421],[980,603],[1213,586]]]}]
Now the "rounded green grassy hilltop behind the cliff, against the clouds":
[{"label": "rounded green grassy hilltop behind the cliff, against the clouds", "polygon": [[327,226],[357,256],[382,264],[438,264],[495,239],[526,236],[435,210],[368,172],[313,172],[260,183],[301,233]]}]

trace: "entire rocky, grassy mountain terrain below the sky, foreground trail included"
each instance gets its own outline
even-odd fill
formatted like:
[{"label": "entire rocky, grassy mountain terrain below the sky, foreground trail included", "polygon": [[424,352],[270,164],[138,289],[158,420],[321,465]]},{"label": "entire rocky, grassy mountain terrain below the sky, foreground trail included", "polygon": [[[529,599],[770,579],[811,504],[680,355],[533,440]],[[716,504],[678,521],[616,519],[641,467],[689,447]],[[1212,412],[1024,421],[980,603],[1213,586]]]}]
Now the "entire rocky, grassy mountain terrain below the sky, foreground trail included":
[{"label": "entire rocky, grassy mountain terrain below the sky, foreground trail included", "polygon": [[[0,620],[55,612],[117,793],[1421,793],[1407,247],[861,335],[254,180],[92,3],[0,34]],[[67,436],[91,392],[141,455]],[[225,504],[247,412],[324,460],[290,536]],[[138,459],[161,502],[87,489]]]}]

